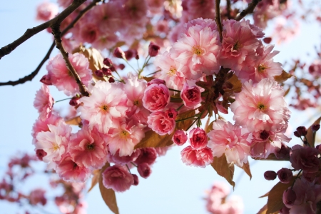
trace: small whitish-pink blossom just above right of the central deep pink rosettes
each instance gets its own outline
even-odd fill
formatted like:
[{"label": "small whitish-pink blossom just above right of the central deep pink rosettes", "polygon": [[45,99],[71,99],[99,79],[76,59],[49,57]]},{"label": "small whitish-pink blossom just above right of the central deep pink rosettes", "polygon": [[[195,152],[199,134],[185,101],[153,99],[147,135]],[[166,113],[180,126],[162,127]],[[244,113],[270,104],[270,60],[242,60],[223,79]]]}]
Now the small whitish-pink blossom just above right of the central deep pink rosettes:
[{"label": "small whitish-pink blossom just above right of the central deep pink rosettes", "polygon": [[187,66],[170,58],[168,51],[156,56],[154,65],[161,68],[161,71],[156,73],[156,75],[166,82],[166,86],[175,90],[183,88],[185,83],[184,73],[188,72]]}]

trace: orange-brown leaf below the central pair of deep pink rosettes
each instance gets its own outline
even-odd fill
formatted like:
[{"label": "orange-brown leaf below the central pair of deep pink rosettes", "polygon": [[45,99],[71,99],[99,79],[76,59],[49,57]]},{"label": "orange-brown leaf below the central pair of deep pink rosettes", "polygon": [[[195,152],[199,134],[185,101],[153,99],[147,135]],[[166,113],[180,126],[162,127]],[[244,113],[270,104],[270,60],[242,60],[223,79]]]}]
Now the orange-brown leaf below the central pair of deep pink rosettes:
[{"label": "orange-brown leaf below the central pair of deep pink rosettes", "polygon": [[[194,110],[190,110],[190,111],[185,111],[183,113],[180,113],[176,120],[181,120],[183,118],[188,118],[190,116],[195,115],[195,111]],[[175,127],[175,131],[178,129],[186,129],[188,128],[188,126],[190,126],[190,124],[192,124],[193,121],[191,119],[186,120],[186,121],[180,121],[178,123],[176,123],[176,127]],[[160,136],[158,135],[158,133],[150,130],[147,131],[145,133],[145,137],[141,140],[141,142],[139,142],[135,148],[146,148],[146,147],[165,147],[165,146],[170,146],[173,144],[172,141],[172,137],[173,134],[175,133],[175,131],[173,131],[173,133],[171,133],[170,135],[166,134],[165,136]]]}]

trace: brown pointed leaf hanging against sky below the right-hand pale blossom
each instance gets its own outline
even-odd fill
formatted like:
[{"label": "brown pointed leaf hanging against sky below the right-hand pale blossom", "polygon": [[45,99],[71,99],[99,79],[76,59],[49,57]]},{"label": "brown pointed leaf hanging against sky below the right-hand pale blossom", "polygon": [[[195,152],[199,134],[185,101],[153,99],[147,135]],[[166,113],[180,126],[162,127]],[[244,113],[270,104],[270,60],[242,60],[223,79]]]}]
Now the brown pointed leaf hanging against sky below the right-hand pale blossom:
[{"label": "brown pointed leaf hanging against sky below the right-hand pale blossom", "polygon": [[234,188],[235,186],[235,182],[233,181],[234,165],[228,164],[228,161],[226,161],[225,153],[223,154],[223,156],[220,156],[220,158],[214,157],[213,162],[210,163],[210,165],[212,165],[212,167],[215,169],[218,175],[228,180],[228,183],[230,183],[230,185],[233,185],[233,188]]}]

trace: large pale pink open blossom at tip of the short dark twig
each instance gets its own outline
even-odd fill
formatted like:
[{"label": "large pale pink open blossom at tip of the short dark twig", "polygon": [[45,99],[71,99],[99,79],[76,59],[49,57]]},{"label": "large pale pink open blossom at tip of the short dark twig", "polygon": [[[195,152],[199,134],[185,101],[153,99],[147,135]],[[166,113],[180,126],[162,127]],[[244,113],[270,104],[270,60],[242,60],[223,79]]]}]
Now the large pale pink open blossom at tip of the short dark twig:
[{"label": "large pale pink open blossom at tip of the short dark twig", "polygon": [[108,133],[110,128],[117,128],[125,120],[128,108],[122,86],[122,83],[97,81],[95,86],[88,88],[91,96],[80,99],[83,104],[77,112],[89,122],[91,130],[96,127],[99,132]]}]

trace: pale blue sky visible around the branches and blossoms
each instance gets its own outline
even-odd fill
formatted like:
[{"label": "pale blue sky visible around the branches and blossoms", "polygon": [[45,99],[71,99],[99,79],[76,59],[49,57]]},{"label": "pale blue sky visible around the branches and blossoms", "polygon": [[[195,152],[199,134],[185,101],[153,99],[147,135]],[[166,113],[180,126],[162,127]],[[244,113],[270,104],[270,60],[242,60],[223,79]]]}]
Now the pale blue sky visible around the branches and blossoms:
[{"label": "pale blue sky visible around the branches and blossoms", "polygon": [[[30,1],[4,1],[0,0],[0,46],[9,44],[19,38],[27,28],[40,24],[35,21],[36,6],[39,0]],[[313,34],[312,34],[313,33]],[[300,35],[295,40],[284,46],[276,47],[281,51],[276,57],[281,63],[291,56],[307,58],[306,53],[312,52],[315,56],[313,46],[320,44],[320,26],[302,25]],[[0,60],[0,81],[16,80],[34,71],[38,63],[46,54],[51,45],[51,34],[41,32],[19,46],[9,56]],[[55,56],[57,52],[51,56]],[[310,61],[312,58],[307,58]],[[34,96],[39,90],[41,83],[39,79],[46,73],[45,66],[34,81],[19,86],[0,87],[0,178],[6,168],[10,156],[16,151],[34,151],[31,144],[31,128],[38,117],[34,109]],[[65,98],[61,92],[51,87],[55,100]],[[55,108],[63,108],[66,103],[56,103]],[[292,111],[292,110],[291,110]],[[294,112],[294,111],[292,111]],[[292,128],[300,126],[308,120],[308,115],[313,113],[292,113]],[[300,119],[304,118],[304,121]],[[307,124],[303,124],[307,125]],[[121,214],[195,214],[207,213],[205,210],[205,190],[210,188],[215,180],[220,178],[210,166],[193,168],[185,166],[180,161],[181,148],[172,148],[164,157],[158,158],[153,165],[153,173],[148,179],[140,179],[138,186],[133,186],[126,193],[117,193],[118,207]],[[265,170],[278,170],[288,167],[288,163],[259,162],[250,160],[253,179],[250,181],[248,175],[240,175],[241,170],[235,170],[237,184],[233,194],[240,195],[245,203],[245,213],[256,213],[265,204],[266,198],[258,199],[265,194],[274,181],[265,181],[263,173]],[[44,167],[44,165],[41,165]],[[32,187],[44,183],[43,177],[32,180],[22,188],[29,190]],[[111,213],[101,199],[98,187],[86,195],[88,201],[88,213]],[[10,203],[0,201],[1,213],[16,213],[16,207]],[[51,210],[51,213],[58,213]]]}]

